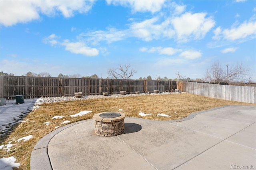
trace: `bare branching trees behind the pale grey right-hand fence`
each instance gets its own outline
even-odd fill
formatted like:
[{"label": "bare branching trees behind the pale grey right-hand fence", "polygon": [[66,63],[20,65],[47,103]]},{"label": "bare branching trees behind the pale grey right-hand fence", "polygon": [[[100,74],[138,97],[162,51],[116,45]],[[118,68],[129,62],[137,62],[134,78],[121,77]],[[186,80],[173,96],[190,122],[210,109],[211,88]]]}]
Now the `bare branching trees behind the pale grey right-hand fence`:
[{"label": "bare branching trees behind the pale grey right-hand fence", "polygon": [[221,67],[218,61],[215,61],[209,69],[206,69],[206,80],[216,84],[221,82],[245,82],[249,81],[248,73],[250,68],[245,67],[242,63],[236,64],[235,67],[228,67],[228,72]]}]

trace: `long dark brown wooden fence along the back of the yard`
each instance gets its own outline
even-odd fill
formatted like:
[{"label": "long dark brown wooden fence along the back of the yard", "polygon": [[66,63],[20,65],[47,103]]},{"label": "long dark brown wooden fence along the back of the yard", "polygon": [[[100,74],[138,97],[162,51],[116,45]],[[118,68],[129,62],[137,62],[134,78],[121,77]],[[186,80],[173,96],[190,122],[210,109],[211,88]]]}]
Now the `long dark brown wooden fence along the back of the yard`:
[{"label": "long dark brown wooden fence along the back of the yard", "polygon": [[26,99],[31,99],[74,96],[74,92],[100,95],[102,92],[152,93],[154,90],[164,92],[172,89],[176,89],[176,81],[0,76],[0,97],[6,99],[14,99],[16,95],[24,95]]}]

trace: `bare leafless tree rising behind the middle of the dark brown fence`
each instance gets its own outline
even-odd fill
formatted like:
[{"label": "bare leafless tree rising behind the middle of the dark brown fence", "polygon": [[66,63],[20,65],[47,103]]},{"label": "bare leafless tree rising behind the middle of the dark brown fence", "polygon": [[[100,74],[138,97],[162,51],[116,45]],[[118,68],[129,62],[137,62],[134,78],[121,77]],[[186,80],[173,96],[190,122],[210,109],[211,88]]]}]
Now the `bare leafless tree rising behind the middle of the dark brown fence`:
[{"label": "bare leafless tree rising behind the middle of the dark brown fence", "polygon": [[120,65],[118,68],[108,69],[108,76],[114,77],[115,79],[130,79],[137,71],[133,68],[129,71],[130,65],[126,64],[124,67]]}]

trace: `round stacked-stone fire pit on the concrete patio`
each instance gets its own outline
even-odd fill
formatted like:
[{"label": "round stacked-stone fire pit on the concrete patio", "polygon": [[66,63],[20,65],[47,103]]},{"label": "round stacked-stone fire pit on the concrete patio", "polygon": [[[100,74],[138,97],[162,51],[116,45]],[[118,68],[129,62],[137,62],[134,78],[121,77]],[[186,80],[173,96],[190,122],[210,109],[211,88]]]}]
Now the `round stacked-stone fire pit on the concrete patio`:
[{"label": "round stacked-stone fire pit on the concrete patio", "polygon": [[124,132],[124,113],[102,112],[95,114],[95,133],[98,136],[116,136]]}]

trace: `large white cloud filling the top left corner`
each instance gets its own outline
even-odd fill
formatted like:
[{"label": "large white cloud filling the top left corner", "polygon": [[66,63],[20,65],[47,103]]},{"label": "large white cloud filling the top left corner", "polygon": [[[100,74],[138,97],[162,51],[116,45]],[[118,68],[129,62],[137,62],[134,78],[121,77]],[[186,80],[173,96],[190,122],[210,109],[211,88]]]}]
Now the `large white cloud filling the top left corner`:
[{"label": "large white cloud filling the top left corner", "polygon": [[86,13],[94,1],[1,1],[1,24],[12,26],[17,23],[27,23],[40,19],[40,14],[55,16],[61,13],[64,17],[74,16],[74,12]]}]

